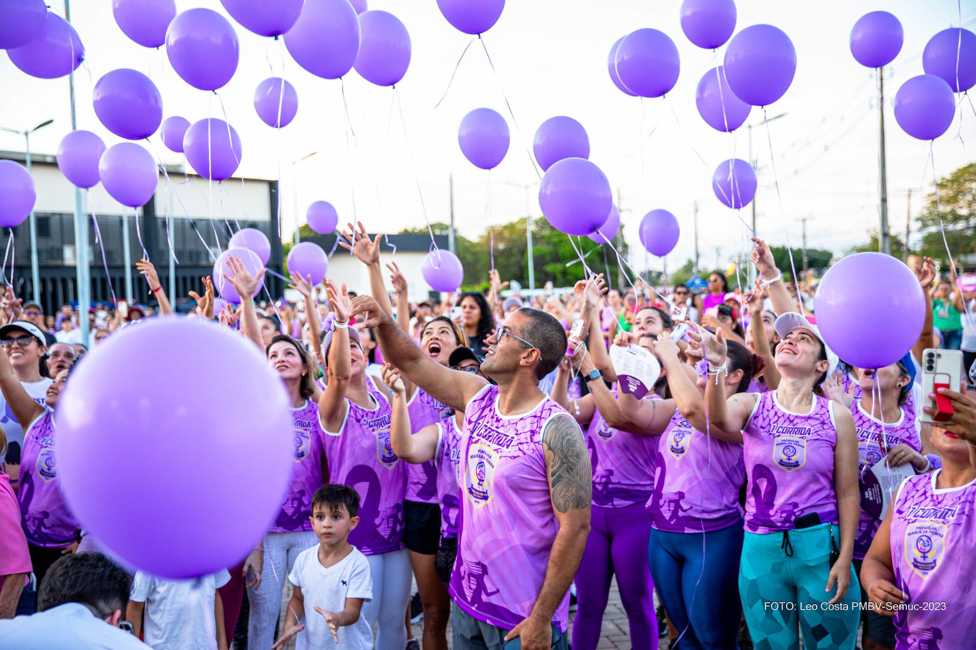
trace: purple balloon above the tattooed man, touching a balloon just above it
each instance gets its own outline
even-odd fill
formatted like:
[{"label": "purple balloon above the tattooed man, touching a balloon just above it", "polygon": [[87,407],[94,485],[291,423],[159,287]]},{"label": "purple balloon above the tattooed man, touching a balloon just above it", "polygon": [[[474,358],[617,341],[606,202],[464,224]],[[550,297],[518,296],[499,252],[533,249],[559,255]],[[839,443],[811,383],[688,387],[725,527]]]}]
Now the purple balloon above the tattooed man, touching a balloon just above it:
[{"label": "purple balloon above the tattooed man, touching a balloon just above it", "polygon": [[610,218],[613,193],[599,167],[583,158],[563,158],[543,176],[539,207],[556,230],[583,236]]}]

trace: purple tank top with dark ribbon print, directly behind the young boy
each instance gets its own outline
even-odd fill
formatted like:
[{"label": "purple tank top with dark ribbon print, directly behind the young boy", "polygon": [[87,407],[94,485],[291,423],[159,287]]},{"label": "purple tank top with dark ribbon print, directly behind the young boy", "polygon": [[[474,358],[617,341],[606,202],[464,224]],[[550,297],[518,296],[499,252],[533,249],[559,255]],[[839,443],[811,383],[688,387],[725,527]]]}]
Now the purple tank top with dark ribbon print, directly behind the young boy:
[{"label": "purple tank top with dark ribbon print, directly behind the young boy", "polygon": [[403,548],[403,492],[406,465],[389,442],[389,402],[366,378],[376,402],[365,409],[346,398],[346,419],[336,432],[325,430],[322,440],[333,483],[359,493],[359,525],[349,533],[349,544],[364,555],[379,555]]}]

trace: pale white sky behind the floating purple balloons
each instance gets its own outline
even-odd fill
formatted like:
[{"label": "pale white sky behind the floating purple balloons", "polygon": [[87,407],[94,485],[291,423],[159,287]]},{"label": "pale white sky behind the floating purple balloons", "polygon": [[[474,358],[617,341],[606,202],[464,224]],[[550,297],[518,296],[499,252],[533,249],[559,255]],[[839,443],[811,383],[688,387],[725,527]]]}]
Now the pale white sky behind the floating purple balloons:
[{"label": "pale white sky behind the floating purple balloons", "polygon": [[[243,142],[239,173],[282,180],[283,232],[294,229],[296,216],[304,223],[305,209],[315,200],[335,205],[340,223],[354,214],[370,231],[422,226],[425,214],[430,222],[447,222],[453,176],[456,226],[476,238],[488,224],[524,216],[526,204],[540,217],[539,178],[528,149],[543,121],[569,115],[587,129],[590,160],[614,188],[632,247],[642,250],[637,225],[643,215],[669,210],[681,235],[667,264],[671,269],[683,264],[694,255],[697,203],[702,265],[717,260],[724,266],[747,251],[749,233],[739,217],[748,222],[750,209],[737,216],[719,203],[711,179],[722,161],[748,157],[750,130],[743,126],[722,134],[698,114],[695,88],[705,72],[721,63],[724,48],[714,54],[687,40],[678,20],[679,0],[510,0],[484,35],[494,70],[475,41],[449,88],[471,37],[452,27],[434,0],[369,2],[370,9],[403,21],[413,51],[395,92],[370,84],[354,70],[346,75],[353,136],[346,127],[340,81],[306,72],[280,40],[260,37],[231,20],[240,41],[240,62],[218,100],[183,82],[165,48],[149,50],[130,41],[112,18],[111,2],[75,0],[72,23],[86,47],[84,66],[75,72],[78,128],[94,131],[109,146],[120,142],[96,117],[91,93],[105,72],[133,67],[159,88],[164,118],[183,115],[193,122],[208,115],[223,118],[225,111]],[[61,3],[51,0],[53,11],[61,13]],[[193,7],[226,15],[218,0],[177,0],[178,11]],[[774,24],[790,36],[797,56],[793,84],[767,107],[769,117],[785,115],[763,126],[762,111],[753,108],[747,120],[755,125],[752,151],[758,159],[756,231],[771,244],[784,245],[789,237],[798,247],[800,220],[806,219],[807,245],[839,255],[866,242],[869,230],[877,227],[876,79],[873,70],[854,61],[848,44],[854,22],[877,9],[894,14],[905,29],[904,45],[886,68],[884,86],[888,214],[892,231],[901,234],[906,216],[911,212],[914,217],[931,191],[933,166],[928,143],[898,127],[892,101],[902,83],[922,73],[921,51],[932,35],[959,24],[976,28],[976,0],[738,3],[737,32],[755,23]],[[626,96],[607,73],[610,47],[640,27],[664,31],[677,46],[680,76],[666,99]],[[272,70],[276,76],[283,71],[299,95],[298,115],[280,133],[264,125],[253,104],[255,89]],[[54,118],[52,126],[32,137],[31,148],[56,152],[70,130],[67,77],[29,77],[4,54],[0,88],[0,126],[22,130]],[[435,108],[446,89],[446,98]],[[491,172],[471,165],[457,141],[462,118],[480,106],[501,113],[511,134],[505,160]],[[158,135],[152,140],[165,150]],[[0,133],[0,148],[20,150],[22,145],[22,138]],[[167,163],[183,163],[182,154],[167,151],[165,157]],[[933,157],[940,176],[976,160],[976,111],[968,102],[956,111],[947,134],[934,142]],[[631,254],[631,262],[645,264],[639,254]],[[660,269],[662,261],[647,264]]]}]

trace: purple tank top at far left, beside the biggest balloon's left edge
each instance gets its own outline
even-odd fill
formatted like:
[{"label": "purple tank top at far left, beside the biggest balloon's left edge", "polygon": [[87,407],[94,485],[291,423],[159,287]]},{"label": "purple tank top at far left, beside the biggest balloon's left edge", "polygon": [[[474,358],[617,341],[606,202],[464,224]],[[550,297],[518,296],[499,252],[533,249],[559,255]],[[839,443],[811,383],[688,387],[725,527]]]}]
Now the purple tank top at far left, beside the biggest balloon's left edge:
[{"label": "purple tank top at far left, beside the biggest balloon's left edge", "polygon": [[20,452],[20,525],[36,547],[64,548],[78,540],[80,526],[67,507],[58,480],[58,427],[49,408],[27,427]]}]

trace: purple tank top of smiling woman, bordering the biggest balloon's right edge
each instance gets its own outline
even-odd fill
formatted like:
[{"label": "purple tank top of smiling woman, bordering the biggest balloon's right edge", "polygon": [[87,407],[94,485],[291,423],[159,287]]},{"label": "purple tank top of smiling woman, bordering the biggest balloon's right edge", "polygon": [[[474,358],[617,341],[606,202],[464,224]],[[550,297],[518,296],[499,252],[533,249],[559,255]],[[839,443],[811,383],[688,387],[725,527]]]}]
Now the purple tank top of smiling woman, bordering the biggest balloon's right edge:
[{"label": "purple tank top of smiling woman, bordering the biggest balloon's right edge", "polygon": [[278,517],[268,528],[271,533],[311,530],[311,495],[322,486],[322,430],[318,424],[318,404],[310,399],[292,409],[295,433],[295,465],[288,491],[281,502]]}]

